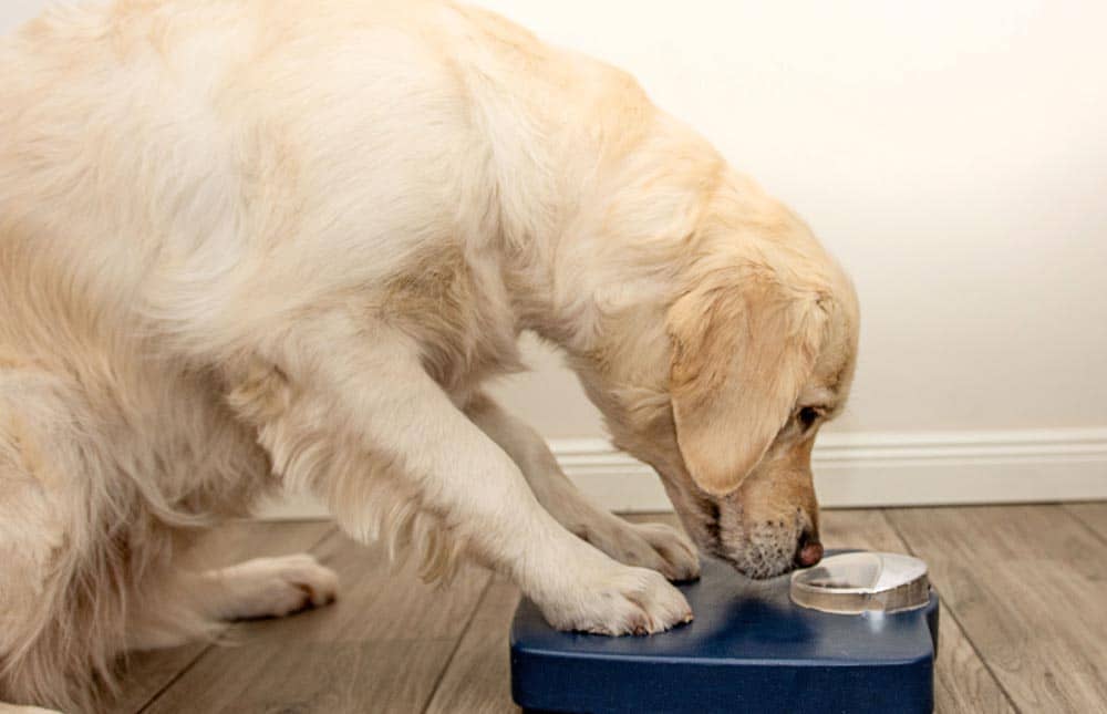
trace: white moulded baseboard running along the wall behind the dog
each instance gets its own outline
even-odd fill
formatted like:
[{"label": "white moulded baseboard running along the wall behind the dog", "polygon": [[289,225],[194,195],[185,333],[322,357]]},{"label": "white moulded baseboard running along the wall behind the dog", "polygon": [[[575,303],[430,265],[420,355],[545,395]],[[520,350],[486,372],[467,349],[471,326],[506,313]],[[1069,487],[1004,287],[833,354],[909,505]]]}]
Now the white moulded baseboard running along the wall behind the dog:
[{"label": "white moulded baseboard running along the wall behind the dog", "polygon": [[[653,469],[603,439],[552,439],[566,474],[611,510],[671,510]],[[813,455],[824,507],[1107,499],[1107,427],[824,434]],[[293,499],[262,518],[325,516]]]}]

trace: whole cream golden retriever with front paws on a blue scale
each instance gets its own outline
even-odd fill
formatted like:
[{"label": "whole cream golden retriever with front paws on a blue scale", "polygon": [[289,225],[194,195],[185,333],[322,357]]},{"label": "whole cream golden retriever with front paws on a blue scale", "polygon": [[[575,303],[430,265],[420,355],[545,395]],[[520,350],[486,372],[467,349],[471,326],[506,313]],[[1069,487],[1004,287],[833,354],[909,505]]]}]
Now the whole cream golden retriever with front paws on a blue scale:
[{"label": "whole cream golden retriever with front paws on a blue scale", "polygon": [[529,330],[692,539],[821,555],[809,456],[858,308],[810,230],[627,74],[416,0],[116,0],[0,44],[0,700],[334,597],[189,570],[279,488],[509,576],[566,630],[692,618],[696,548],[579,494],[484,391]]}]

